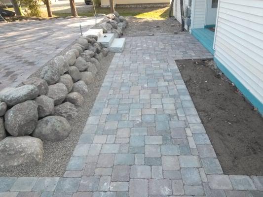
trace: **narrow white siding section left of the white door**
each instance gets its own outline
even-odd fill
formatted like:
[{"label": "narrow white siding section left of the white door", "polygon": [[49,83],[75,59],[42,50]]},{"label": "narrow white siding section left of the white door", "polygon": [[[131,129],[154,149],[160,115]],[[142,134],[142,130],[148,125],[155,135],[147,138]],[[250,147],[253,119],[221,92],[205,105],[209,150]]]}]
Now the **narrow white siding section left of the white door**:
[{"label": "narrow white siding section left of the white door", "polygon": [[192,0],[191,29],[204,28],[206,0]]}]

